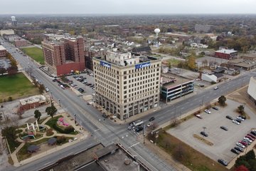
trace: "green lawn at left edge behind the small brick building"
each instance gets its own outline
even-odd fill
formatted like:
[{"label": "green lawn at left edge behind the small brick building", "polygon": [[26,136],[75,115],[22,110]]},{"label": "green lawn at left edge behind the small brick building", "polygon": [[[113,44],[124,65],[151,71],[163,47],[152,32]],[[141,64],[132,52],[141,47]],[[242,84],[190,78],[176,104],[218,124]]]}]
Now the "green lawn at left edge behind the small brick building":
[{"label": "green lawn at left edge behind the small brick building", "polygon": [[0,76],[0,101],[24,98],[39,94],[38,88],[34,86],[23,73],[14,76]]}]

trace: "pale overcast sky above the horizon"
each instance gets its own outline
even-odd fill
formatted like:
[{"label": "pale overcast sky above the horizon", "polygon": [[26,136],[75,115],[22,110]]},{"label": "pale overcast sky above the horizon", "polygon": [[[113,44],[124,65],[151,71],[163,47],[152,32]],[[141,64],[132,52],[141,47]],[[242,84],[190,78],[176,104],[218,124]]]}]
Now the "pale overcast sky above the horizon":
[{"label": "pale overcast sky above the horizon", "polygon": [[255,14],[256,0],[1,0],[0,14]]}]

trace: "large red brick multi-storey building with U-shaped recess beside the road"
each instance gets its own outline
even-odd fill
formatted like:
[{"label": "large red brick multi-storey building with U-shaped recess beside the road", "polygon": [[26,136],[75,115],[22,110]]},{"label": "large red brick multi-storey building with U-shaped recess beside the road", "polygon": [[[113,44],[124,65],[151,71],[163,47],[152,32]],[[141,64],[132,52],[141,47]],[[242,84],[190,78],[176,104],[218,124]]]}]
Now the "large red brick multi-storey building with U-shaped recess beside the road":
[{"label": "large red brick multi-storey building with U-shaped recess beside the road", "polygon": [[43,41],[43,56],[46,66],[55,71],[57,76],[70,71],[85,69],[84,42],[82,37],[65,38],[60,41]]}]

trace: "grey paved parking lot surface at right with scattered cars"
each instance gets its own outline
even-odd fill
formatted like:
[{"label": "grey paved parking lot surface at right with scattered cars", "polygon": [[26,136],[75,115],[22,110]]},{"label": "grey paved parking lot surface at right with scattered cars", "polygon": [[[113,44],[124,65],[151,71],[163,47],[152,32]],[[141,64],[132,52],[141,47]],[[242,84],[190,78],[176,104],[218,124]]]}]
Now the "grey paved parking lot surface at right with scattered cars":
[{"label": "grey paved parking lot surface at right with scattered cars", "polygon": [[[232,120],[225,118],[225,116],[230,115],[236,118],[238,113],[235,113],[235,109],[241,103],[228,99],[227,103],[228,106],[225,108],[218,107],[219,110],[210,109],[211,114],[201,113],[203,119],[192,118],[178,125],[178,127],[168,130],[168,133],[186,142],[213,160],[223,158],[229,162],[237,156],[230,152],[235,147],[235,143],[242,140],[250,129],[256,128],[256,115],[245,106],[245,112],[250,115],[250,120],[245,120],[240,125],[235,125],[235,123],[232,123]],[[225,126],[228,128],[228,131],[220,129],[220,126]],[[208,133],[208,137],[205,139],[213,142],[213,146],[206,145],[204,142],[193,138],[193,134],[201,136],[200,132],[203,131],[203,127],[206,127],[206,133]]]}]

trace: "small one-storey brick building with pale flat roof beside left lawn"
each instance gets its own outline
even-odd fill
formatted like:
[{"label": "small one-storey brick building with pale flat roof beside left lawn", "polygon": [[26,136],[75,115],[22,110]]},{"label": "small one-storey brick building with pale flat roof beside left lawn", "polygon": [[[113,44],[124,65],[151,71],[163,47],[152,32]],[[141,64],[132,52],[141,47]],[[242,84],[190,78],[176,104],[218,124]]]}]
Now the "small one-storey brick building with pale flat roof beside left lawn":
[{"label": "small one-storey brick building with pale flat roof beside left lawn", "polygon": [[41,105],[46,105],[46,97],[44,95],[34,95],[28,98],[23,98],[20,101],[18,111],[25,111],[31,108],[38,108]]}]

